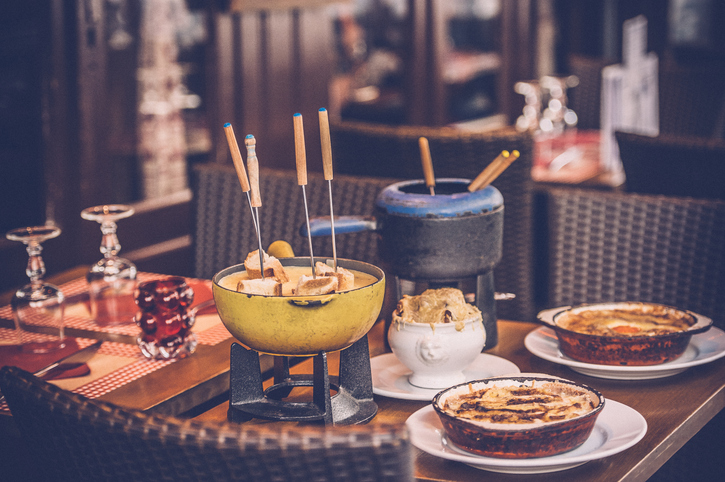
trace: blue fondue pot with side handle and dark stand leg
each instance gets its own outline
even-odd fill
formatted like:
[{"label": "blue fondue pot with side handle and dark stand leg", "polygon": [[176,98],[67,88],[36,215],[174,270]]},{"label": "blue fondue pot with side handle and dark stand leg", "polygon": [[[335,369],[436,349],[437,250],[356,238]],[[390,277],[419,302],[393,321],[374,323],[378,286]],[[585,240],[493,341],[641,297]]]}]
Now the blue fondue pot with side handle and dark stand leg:
[{"label": "blue fondue pot with side handle and dark stand leg", "polygon": [[[429,288],[475,289],[483,316],[486,348],[498,343],[493,270],[501,260],[503,196],[493,186],[469,192],[468,179],[438,179],[435,195],[423,180],[386,187],[375,202],[375,217],[340,216],[336,232],[374,230],[386,271],[395,278],[397,296]],[[324,218],[310,221],[313,236],[329,236]],[[300,228],[306,236],[306,226]],[[475,288],[473,284],[475,283]]]}]

